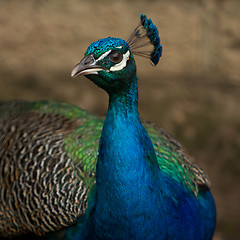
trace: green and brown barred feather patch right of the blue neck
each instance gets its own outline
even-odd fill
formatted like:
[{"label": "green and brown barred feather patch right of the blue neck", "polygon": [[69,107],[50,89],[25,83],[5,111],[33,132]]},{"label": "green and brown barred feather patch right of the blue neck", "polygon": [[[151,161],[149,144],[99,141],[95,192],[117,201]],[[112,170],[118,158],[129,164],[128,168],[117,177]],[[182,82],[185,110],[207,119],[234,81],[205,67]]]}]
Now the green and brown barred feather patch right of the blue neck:
[{"label": "green and brown barred feather patch right of the blue neck", "polygon": [[209,189],[208,175],[185,153],[184,147],[165,129],[153,123],[144,124],[156,152],[161,170],[185,184],[198,197],[200,189]]}]

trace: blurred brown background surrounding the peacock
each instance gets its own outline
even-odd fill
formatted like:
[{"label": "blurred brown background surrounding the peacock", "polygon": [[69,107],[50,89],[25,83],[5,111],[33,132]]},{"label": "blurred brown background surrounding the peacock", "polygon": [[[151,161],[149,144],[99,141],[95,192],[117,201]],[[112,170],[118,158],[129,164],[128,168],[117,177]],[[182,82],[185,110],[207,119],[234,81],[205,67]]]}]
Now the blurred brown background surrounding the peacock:
[{"label": "blurred brown background surrounding the peacock", "polygon": [[106,94],[70,72],[92,41],[126,39],[147,14],[163,57],[157,67],[136,57],[141,116],[208,172],[214,240],[240,239],[239,10],[237,0],[0,0],[0,100],[62,100],[104,115]]}]

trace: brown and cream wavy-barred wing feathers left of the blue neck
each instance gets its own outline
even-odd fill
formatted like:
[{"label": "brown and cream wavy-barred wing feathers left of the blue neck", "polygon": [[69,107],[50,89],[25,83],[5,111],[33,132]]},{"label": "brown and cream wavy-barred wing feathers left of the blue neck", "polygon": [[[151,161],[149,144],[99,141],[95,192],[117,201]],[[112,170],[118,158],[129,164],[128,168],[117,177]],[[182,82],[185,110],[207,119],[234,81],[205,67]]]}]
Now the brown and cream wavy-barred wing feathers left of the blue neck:
[{"label": "brown and cream wavy-barred wing feathers left of the blue neck", "polygon": [[43,235],[85,213],[86,187],[64,151],[64,136],[81,123],[49,115],[0,120],[0,236]]}]

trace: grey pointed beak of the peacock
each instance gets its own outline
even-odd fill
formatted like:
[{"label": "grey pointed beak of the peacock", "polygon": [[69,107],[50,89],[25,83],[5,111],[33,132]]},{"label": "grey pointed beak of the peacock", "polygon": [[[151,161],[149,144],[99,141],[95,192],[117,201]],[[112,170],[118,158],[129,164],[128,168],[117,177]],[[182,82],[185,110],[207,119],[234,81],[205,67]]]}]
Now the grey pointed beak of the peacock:
[{"label": "grey pointed beak of the peacock", "polygon": [[101,70],[104,70],[104,68],[96,65],[94,57],[92,55],[87,55],[73,68],[71,77],[98,74]]}]

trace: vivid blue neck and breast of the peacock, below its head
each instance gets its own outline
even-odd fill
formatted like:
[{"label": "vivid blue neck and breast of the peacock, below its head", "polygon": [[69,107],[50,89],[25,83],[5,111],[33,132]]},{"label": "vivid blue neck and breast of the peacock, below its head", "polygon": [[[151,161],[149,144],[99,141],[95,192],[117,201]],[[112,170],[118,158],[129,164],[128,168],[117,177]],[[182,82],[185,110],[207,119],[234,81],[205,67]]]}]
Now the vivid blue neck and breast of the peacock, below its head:
[{"label": "vivid blue neck and breast of the peacock, below its head", "polygon": [[160,171],[139,120],[135,75],[126,91],[109,93],[99,145],[95,206],[86,239],[211,239],[204,229],[203,206],[214,206],[209,192],[197,199]]}]

